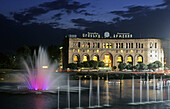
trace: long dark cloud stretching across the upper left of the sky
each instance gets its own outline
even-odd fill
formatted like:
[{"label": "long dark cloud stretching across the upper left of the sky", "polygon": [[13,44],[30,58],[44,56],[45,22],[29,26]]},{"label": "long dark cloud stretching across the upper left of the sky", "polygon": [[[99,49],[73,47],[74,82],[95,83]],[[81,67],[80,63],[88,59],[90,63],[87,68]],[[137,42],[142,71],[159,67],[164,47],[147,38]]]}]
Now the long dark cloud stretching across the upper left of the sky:
[{"label": "long dark cloud stretching across the upper left of the sky", "polygon": [[[15,20],[17,20],[20,23],[25,23],[25,22],[27,23],[30,20],[36,20],[35,17],[40,16],[42,14],[46,14],[50,11],[64,10],[67,14],[70,14],[71,12],[78,13],[79,9],[86,8],[89,5],[90,3],[81,4],[80,2],[75,2],[72,0],[55,0],[52,2],[45,2],[39,4],[38,6],[25,9],[22,12],[14,12],[13,17]],[[89,13],[84,13],[84,14],[92,15]]]}]

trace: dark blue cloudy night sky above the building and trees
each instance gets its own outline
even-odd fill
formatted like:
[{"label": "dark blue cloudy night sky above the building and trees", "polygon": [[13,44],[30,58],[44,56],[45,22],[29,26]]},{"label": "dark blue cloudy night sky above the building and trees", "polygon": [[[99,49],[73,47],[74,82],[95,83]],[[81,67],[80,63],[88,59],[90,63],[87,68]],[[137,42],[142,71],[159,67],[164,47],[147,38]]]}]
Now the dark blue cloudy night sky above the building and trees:
[{"label": "dark blue cloudy night sky above the building and trees", "polygon": [[65,35],[170,37],[170,0],[0,0],[0,51],[62,45]]}]

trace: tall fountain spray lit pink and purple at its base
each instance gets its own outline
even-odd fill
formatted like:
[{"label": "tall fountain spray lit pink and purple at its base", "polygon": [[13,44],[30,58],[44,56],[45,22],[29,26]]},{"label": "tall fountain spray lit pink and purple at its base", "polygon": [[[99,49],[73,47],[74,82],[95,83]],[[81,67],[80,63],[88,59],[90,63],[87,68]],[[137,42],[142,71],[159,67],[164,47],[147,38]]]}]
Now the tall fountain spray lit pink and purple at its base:
[{"label": "tall fountain spray lit pink and purple at its base", "polygon": [[[34,54],[33,58],[24,61],[27,74],[24,75],[24,84],[31,90],[48,90],[57,81],[53,74],[57,65],[51,64],[47,52],[39,48],[38,55]],[[59,77],[59,76],[58,76]]]}]

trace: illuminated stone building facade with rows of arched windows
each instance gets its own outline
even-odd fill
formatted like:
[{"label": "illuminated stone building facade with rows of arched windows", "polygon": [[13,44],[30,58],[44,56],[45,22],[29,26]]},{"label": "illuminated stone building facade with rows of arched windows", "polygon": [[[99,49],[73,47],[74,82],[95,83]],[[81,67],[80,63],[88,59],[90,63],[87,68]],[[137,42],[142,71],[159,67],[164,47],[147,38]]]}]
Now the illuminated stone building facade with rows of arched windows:
[{"label": "illuminated stone building facade with rows of arched windows", "polygon": [[136,65],[154,61],[164,63],[160,39],[90,39],[66,38],[63,42],[63,65],[88,60],[99,60],[106,67],[119,63]]}]

